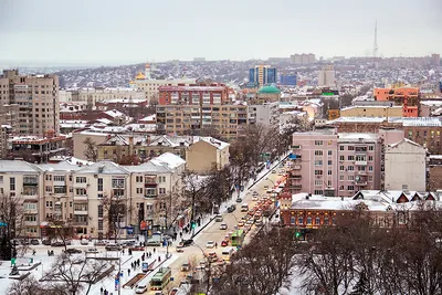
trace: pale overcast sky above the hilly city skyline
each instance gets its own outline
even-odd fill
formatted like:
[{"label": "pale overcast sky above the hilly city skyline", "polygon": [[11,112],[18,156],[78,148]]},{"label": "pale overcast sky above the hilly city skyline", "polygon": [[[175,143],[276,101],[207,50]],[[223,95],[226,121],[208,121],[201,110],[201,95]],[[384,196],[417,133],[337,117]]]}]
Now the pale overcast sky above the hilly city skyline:
[{"label": "pale overcast sky above the hilly city skyline", "polygon": [[442,54],[442,0],[0,0],[0,62]]}]

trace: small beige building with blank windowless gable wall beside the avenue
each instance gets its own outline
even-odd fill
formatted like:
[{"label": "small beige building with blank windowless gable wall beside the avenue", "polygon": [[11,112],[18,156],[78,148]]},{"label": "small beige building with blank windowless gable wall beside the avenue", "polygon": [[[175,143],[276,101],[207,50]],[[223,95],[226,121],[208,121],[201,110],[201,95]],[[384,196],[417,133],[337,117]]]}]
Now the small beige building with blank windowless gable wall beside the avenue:
[{"label": "small beige building with blank windowless gable wall beside the avenue", "polygon": [[220,170],[229,164],[230,144],[212,137],[196,137],[196,139],[186,150],[188,170],[206,175],[213,168]]}]

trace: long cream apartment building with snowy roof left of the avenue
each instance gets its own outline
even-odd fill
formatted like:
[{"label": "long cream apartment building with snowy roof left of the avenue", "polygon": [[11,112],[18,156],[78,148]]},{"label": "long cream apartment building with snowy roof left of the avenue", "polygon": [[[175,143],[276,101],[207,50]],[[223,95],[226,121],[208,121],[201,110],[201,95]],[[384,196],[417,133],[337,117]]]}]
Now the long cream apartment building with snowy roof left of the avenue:
[{"label": "long cream apartment building with snowy roof left of the avenue", "polygon": [[[182,209],[175,206],[182,198],[185,168],[186,161],[172,154],[130,167],[112,161],[0,161],[0,192],[19,201],[19,236],[43,238],[55,221],[63,221],[74,226],[77,238],[114,234],[109,222],[126,238],[141,233],[141,221],[148,224],[145,233],[166,226],[166,218],[170,224]],[[110,204],[117,215],[109,215]]]}]

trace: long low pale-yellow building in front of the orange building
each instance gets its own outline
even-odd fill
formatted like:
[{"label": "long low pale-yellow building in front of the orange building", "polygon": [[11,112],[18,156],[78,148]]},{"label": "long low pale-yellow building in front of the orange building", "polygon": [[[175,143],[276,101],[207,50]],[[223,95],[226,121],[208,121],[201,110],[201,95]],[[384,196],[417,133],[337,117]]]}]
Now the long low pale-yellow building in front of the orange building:
[{"label": "long low pale-yellow building in front of the orange building", "polygon": [[402,117],[402,106],[349,106],[340,109],[341,117]]}]

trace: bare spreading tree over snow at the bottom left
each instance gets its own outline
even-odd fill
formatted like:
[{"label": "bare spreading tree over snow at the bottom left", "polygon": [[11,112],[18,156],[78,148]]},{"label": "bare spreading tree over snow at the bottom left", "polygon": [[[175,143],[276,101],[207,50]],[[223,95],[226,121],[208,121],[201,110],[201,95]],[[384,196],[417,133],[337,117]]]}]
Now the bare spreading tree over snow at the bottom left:
[{"label": "bare spreading tree over snow at the bottom left", "polygon": [[67,294],[90,294],[93,284],[112,274],[114,266],[104,260],[62,254],[43,276],[43,281],[59,282]]}]

